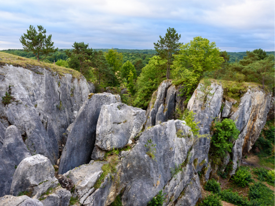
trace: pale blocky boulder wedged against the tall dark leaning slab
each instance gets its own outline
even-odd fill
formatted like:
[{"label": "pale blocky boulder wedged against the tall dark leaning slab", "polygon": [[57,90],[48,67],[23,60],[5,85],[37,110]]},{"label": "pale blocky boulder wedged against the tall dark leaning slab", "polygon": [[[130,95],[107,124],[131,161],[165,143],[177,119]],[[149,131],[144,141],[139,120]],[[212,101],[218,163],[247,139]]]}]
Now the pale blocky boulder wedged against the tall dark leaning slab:
[{"label": "pale blocky boulder wedged against the tall dark leaning slab", "polygon": [[130,145],[146,121],[145,110],[123,103],[103,105],[97,121],[96,145],[103,150]]}]

